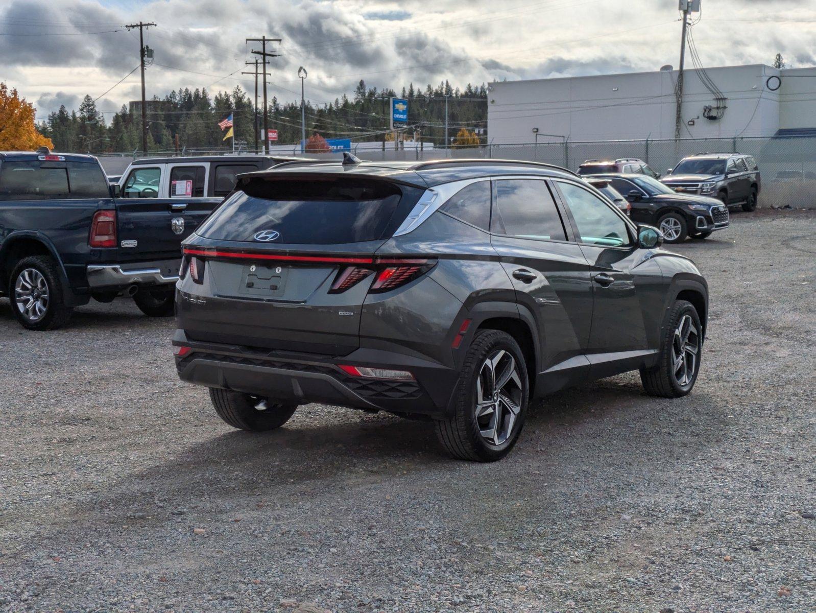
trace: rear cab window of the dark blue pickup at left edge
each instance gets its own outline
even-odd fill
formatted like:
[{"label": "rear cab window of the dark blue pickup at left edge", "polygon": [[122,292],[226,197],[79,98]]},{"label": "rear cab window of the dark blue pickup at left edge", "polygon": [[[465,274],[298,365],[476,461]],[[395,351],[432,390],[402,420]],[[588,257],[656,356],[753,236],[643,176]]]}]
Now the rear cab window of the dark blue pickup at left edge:
[{"label": "rear cab window of the dark blue pickup at left edge", "polygon": [[0,168],[0,200],[69,198],[65,162],[49,166],[38,160],[3,162]]}]

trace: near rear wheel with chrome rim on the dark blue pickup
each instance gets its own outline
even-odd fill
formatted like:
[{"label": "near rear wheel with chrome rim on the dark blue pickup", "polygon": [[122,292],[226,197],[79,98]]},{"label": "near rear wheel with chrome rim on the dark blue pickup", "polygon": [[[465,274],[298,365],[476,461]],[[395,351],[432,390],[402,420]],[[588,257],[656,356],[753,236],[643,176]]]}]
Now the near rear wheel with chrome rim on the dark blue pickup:
[{"label": "near rear wheel with chrome rim on the dark blue pickup", "polygon": [[65,306],[57,264],[48,255],[31,255],[11,271],[8,295],[17,321],[29,330],[64,326],[73,309]]}]

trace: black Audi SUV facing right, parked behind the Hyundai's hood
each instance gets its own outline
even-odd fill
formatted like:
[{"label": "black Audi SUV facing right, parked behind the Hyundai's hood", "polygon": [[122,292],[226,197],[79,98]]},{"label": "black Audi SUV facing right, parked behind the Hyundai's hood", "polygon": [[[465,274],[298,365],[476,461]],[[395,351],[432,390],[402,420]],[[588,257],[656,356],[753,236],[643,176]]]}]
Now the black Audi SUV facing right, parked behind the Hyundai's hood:
[{"label": "black Audi SUV facing right, parked behind the Hyundai's hood", "polygon": [[683,242],[686,237],[708,238],[728,228],[728,207],[716,198],[676,193],[659,180],[644,175],[596,175],[623,193],[632,210],[632,221],[656,225],[666,242]]}]

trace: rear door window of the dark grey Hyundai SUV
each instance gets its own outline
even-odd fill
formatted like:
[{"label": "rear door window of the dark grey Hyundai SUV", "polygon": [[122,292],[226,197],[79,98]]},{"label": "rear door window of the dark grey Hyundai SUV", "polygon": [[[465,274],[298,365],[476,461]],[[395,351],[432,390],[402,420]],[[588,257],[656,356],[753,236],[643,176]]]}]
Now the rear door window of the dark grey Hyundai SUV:
[{"label": "rear door window of the dark grey Hyundai SUV", "polygon": [[556,203],[542,180],[496,181],[496,204],[490,231],[517,238],[565,241]]}]

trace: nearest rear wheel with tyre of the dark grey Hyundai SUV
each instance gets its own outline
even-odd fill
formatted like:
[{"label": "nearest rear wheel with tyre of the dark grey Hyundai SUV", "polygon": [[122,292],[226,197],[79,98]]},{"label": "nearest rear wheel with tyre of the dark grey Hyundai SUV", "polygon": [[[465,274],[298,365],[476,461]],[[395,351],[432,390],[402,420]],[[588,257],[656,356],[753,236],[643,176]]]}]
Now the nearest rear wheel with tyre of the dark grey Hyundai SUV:
[{"label": "nearest rear wheel with tyre of the dark grey Hyundai SUV", "polygon": [[478,332],[456,383],[450,417],[437,420],[442,446],[460,460],[501,460],[524,426],[528,389],[516,340],[498,330]]}]

